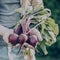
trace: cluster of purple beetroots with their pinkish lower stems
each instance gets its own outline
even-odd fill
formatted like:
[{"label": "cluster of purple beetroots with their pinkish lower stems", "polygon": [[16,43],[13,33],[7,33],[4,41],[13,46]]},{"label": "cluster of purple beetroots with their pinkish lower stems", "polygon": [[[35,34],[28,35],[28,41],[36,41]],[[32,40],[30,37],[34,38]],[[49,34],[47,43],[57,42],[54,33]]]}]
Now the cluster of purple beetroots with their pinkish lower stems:
[{"label": "cluster of purple beetroots with their pinkish lower stems", "polygon": [[42,40],[40,32],[34,28],[30,28],[31,19],[24,18],[21,23],[17,24],[14,28],[14,34],[10,34],[9,42],[12,45],[29,43],[33,47],[37,45],[39,40]]}]

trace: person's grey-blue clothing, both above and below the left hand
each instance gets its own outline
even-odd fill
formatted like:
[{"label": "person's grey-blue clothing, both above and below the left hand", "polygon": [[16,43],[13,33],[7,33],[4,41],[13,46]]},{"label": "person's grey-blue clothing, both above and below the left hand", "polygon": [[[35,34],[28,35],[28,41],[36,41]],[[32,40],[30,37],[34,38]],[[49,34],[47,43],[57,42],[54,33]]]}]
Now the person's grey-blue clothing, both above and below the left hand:
[{"label": "person's grey-blue clothing, both above and below the left hand", "polygon": [[[14,26],[19,20],[19,14],[13,13],[8,15],[8,13],[19,7],[19,0],[0,0],[0,25],[8,28]],[[19,48],[8,47],[0,36],[0,60],[9,60],[10,58],[11,60],[23,60],[21,52],[18,53]],[[8,49],[11,49],[11,51]],[[9,57],[8,52],[11,57]]]}]

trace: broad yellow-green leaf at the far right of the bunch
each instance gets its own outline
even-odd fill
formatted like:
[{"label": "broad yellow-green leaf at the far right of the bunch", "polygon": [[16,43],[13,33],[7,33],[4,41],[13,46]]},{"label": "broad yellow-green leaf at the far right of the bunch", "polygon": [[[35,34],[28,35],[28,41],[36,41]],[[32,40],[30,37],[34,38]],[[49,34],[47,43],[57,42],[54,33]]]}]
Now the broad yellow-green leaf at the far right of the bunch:
[{"label": "broad yellow-green leaf at the far right of the bunch", "polygon": [[48,25],[47,28],[49,30],[52,30],[56,36],[58,35],[59,28],[58,28],[58,24],[55,23],[54,19],[48,18],[46,21],[46,25]]}]

